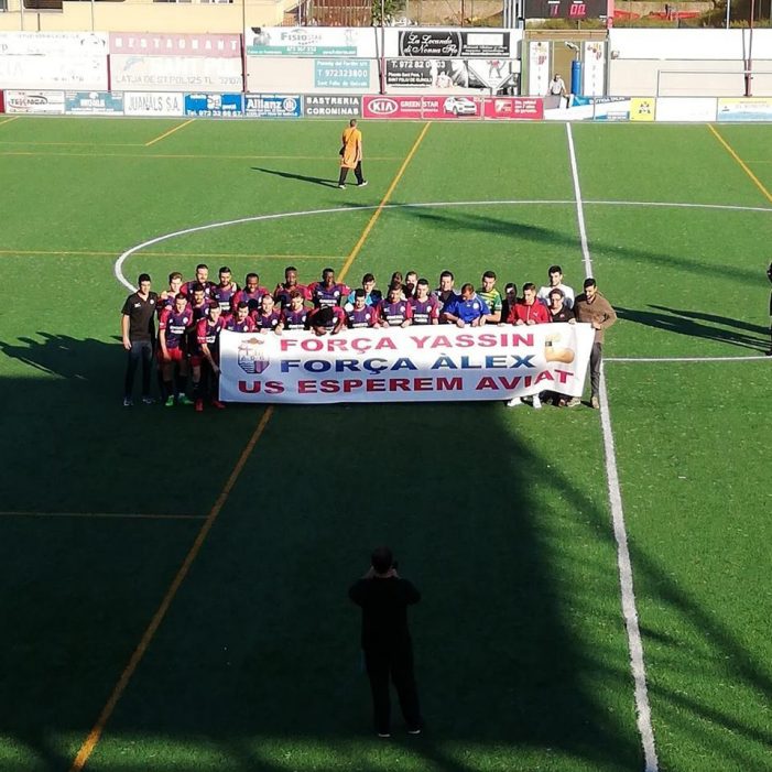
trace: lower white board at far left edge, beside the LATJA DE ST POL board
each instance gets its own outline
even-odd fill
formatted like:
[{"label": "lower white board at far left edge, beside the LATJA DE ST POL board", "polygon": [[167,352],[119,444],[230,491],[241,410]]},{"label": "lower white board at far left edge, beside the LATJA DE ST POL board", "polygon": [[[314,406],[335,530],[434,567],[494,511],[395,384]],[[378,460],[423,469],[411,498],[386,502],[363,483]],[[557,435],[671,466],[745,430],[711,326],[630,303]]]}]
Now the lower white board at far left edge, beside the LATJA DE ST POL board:
[{"label": "lower white board at far left edge, beside the LATJA DE ST POL board", "polygon": [[107,89],[107,56],[0,56],[0,88]]}]

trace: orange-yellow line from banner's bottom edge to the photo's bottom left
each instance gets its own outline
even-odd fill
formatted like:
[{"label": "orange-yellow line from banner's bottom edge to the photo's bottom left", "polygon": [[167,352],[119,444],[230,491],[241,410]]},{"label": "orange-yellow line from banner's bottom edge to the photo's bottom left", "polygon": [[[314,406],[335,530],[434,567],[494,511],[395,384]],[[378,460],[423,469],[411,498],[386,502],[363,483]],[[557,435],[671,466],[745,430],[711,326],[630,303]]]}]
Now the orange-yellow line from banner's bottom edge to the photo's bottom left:
[{"label": "orange-yellow line from banner's bottom edge to the photo's bottom left", "polygon": [[236,461],[236,466],[230,472],[230,476],[228,477],[228,480],[226,481],[222,491],[217,497],[217,501],[215,501],[215,504],[209,511],[209,514],[206,517],[206,520],[204,521],[204,524],[202,525],[202,529],[198,532],[198,535],[196,536],[196,541],[193,543],[193,546],[185,556],[185,559],[183,561],[180,570],[177,572],[176,576],[172,580],[172,584],[166,590],[166,595],[164,595],[161,605],[153,615],[153,618],[151,619],[148,629],[144,631],[142,638],[140,639],[140,642],[137,644],[137,649],[134,649],[134,652],[129,659],[129,663],[123,668],[123,672],[120,674],[118,683],[115,685],[112,692],[110,693],[110,696],[108,697],[107,703],[105,704],[105,707],[99,714],[99,718],[97,718],[97,721],[91,728],[91,731],[88,733],[88,737],[84,740],[83,744],[80,746],[80,749],[78,750],[78,753],[75,757],[75,760],[73,761],[73,765],[70,766],[69,772],[80,772],[80,770],[83,770],[83,768],[86,765],[89,758],[91,757],[91,753],[94,753],[94,750],[96,749],[97,743],[99,742],[99,739],[101,738],[101,735],[105,731],[105,727],[110,720],[112,711],[116,709],[118,700],[121,698],[123,692],[126,691],[126,687],[131,681],[132,675],[134,674],[137,667],[142,661],[144,653],[148,651],[148,646],[153,640],[153,637],[155,635],[155,632],[161,626],[161,622],[163,621],[164,617],[166,616],[166,612],[168,611],[168,608],[172,605],[172,601],[174,600],[177,590],[180,589],[182,583],[185,580],[187,573],[191,570],[191,566],[198,556],[198,553],[200,552],[200,548],[204,545],[204,542],[206,541],[209,531],[211,531],[211,526],[217,520],[217,515],[219,515],[220,511],[222,510],[222,507],[228,500],[228,496],[230,496],[230,491],[233,489],[236,481],[239,479],[239,476],[241,475],[241,471],[244,465],[247,464],[247,459],[249,458],[250,454],[252,453],[252,449],[254,448],[258,441],[265,431],[265,426],[268,425],[268,422],[271,420],[272,415],[273,406],[270,405],[260,418],[260,423],[252,433],[252,436],[247,443],[247,446],[241,452],[239,459]]}]

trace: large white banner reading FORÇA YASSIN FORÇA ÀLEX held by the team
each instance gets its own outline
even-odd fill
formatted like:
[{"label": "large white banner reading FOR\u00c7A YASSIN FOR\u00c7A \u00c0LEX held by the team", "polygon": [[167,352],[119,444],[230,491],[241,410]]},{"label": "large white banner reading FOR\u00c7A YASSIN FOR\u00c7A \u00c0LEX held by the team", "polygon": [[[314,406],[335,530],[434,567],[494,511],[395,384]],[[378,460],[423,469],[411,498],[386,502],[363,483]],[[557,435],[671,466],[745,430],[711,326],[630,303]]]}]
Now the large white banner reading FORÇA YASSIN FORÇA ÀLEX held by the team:
[{"label": "large white banner reading FOR\u00c7A YASSIN FOR\u00c7A \u00c0LEX held by the team", "polygon": [[587,324],[220,335],[226,402],[452,402],[581,394]]}]

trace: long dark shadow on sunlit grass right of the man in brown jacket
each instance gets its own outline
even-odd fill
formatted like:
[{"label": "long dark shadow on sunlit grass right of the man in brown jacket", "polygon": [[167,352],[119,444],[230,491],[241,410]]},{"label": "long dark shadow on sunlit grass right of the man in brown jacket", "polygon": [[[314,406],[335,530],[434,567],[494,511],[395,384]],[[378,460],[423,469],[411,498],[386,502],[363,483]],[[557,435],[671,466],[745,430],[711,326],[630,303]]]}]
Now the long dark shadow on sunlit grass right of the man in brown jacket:
[{"label": "long dark shadow on sunlit grass right of the man in brown jacket", "polygon": [[731,319],[716,314],[677,311],[666,306],[649,305],[646,307],[655,308],[656,311],[639,311],[615,305],[619,317],[627,322],[634,322],[646,327],[663,329],[667,333],[677,333],[678,335],[686,335],[693,338],[732,344],[742,348],[766,349],[766,340],[752,335],[752,333],[761,335],[766,331],[760,325],[752,325],[741,319]]}]

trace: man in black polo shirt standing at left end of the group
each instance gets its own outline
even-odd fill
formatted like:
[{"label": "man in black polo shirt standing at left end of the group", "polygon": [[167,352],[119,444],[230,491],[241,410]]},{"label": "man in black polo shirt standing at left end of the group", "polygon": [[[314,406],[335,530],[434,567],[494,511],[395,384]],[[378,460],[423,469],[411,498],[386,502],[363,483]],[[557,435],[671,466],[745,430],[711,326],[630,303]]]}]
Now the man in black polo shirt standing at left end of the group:
[{"label": "man in black polo shirt standing at left end of the group", "polygon": [[126,298],[121,312],[121,338],[129,352],[123,381],[123,406],[133,404],[134,373],[142,362],[142,402],[152,404],[150,395],[150,370],[153,363],[153,339],[155,338],[155,309],[159,296],[150,291],[150,275],[140,273],[139,290]]}]

